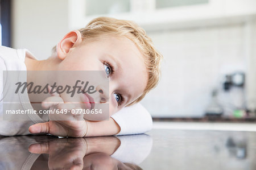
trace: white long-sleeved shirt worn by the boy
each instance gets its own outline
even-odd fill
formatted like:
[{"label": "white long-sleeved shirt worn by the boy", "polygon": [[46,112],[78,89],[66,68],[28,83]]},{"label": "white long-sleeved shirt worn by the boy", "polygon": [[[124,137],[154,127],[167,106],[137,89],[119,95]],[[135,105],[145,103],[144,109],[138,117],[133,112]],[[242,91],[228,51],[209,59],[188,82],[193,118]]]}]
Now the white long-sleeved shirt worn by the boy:
[{"label": "white long-sleeved shirt worn by the boy", "polygon": [[[27,68],[24,64],[26,52],[30,53],[27,49],[13,49],[0,46],[0,135],[27,135],[30,134],[28,127],[35,123],[45,122],[37,114],[27,114],[24,121],[15,121],[19,116],[17,114],[14,114],[15,118],[13,117],[11,120],[2,120],[3,88],[8,88],[3,85],[3,71],[26,71]],[[30,55],[33,56],[31,53]],[[35,57],[33,58],[36,59]],[[33,109],[27,93],[17,94],[11,99],[16,102],[15,105],[9,106],[12,110]],[[152,128],[151,115],[140,103],[121,109],[112,115],[112,118],[121,128],[117,135],[142,134]],[[23,119],[24,115],[22,115]]]}]

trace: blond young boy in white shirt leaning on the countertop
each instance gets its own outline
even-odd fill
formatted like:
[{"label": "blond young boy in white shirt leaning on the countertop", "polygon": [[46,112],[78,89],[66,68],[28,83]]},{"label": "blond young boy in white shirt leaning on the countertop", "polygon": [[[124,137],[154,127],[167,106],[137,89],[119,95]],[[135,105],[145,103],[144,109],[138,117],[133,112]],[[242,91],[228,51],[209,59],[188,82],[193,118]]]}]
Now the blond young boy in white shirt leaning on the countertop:
[{"label": "blond young boy in white shirt leaning on the countertop", "polygon": [[[101,136],[143,133],[151,129],[150,114],[138,103],[159,81],[162,55],[156,51],[146,32],[126,20],[96,18],[85,28],[71,31],[53,48],[51,57],[38,61],[25,49],[0,48],[0,114],[3,115],[3,92],[8,87],[3,82],[3,71],[105,71],[109,78],[109,91],[96,88],[99,101],[109,102],[109,121],[88,121],[77,117],[72,121],[53,119],[43,121],[38,114],[28,114],[26,121],[16,121],[19,115],[0,123],[0,135],[27,135],[47,133],[57,136]],[[2,83],[3,82],[3,83]],[[18,80],[16,81],[18,82]],[[27,82],[40,84],[40,77],[27,76]],[[108,93],[107,93],[108,91]],[[34,99],[42,107],[34,106]],[[90,100],[90,97],[86,97]],[[52,94],[19,94],[11,97],[9,105],[15,110],[67,109],[66,96]],[[18,103],[18,104],[17,104]],[[129,106],[129,107],[128,107]],[[87,106],[86,106],[87,107]],[[122,109],[122,110],[121,110]],[[24,115],[23,115],[24,117]],[[0,119],[1,120],[1,119]],[[53,121],[55,120],[55,121]],[[29,131],[28,131],[29,130]]]}]

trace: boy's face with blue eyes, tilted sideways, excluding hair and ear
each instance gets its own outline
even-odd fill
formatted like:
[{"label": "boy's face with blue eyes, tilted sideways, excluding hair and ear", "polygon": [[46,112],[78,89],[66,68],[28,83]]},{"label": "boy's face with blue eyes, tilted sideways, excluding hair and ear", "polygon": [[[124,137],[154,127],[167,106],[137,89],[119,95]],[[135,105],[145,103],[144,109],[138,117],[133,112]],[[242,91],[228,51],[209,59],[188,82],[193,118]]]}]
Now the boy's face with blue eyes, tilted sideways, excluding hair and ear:
[{"label": "boy's face with blue eyes, tilted sideways, excluding hair and ear", "polygon": [[[109,35],[94,41],[84,40],[69,49],[57,69],[104,71],[106,77],[109,77],[109,89],[98,84],[97,92],[89,95],[95,103],[109,102],[110,115],[141,96],[148,78],[142,53],[130,39],[121,36]],[[71,100],[65,95],[61,97],[64,102]],[[74,97],[81,103],[86,101],[84,94],[76,94]],[[81,107],[90,109],[85,108],[90,107],[90,104]]]}]

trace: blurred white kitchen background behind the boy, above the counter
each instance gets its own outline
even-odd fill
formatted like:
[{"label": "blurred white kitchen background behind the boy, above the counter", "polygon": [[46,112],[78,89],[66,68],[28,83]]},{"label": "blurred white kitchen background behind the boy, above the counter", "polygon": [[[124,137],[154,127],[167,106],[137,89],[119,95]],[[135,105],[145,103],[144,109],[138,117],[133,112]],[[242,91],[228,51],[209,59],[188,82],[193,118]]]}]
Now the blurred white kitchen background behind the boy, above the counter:
[{"label": "blurred white kitchen background behind the boy, above the counter", "polygon": [[255,122],[255,0],[1,0],[2,45],[46,59],[97,16],[134,20],[163,54],[153,118]]}]

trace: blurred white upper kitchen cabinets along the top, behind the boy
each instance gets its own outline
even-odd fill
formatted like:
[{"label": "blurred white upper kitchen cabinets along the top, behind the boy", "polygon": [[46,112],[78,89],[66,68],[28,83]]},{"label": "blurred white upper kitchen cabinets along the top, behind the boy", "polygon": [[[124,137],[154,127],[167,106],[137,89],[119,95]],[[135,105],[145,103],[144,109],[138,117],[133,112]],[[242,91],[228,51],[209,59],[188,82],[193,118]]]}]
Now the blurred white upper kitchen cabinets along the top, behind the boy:
[{"label": "blurred white upper kitchen cabinets along the top, behind the boy", "polygon": [[244,22],[255,15],[255,0],[69,0],[68,16],[70,28],[110,16],[159,30]]}]

